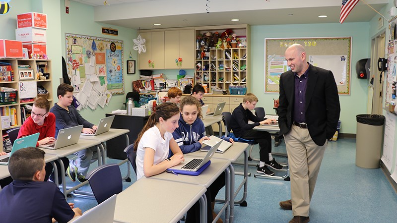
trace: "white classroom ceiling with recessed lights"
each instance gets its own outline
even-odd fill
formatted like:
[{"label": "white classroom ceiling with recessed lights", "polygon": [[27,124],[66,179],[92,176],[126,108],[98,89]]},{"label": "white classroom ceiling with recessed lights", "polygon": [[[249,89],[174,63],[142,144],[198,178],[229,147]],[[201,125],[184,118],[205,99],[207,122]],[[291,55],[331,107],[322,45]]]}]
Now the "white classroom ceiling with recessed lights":
[{"label": "white classroom ceiling with recessed lights", "polygon": [[[97,22],[141,30],[232,24],[337,23],[341,5],[341,0],[106,0],[107,5],[104,5],[105,0],[74,1],[93,5]],[[366,2],[379,11],[389,0]],[[319,15],[328,17],[318,18]],[[368,22],[376,15],[360,1],[344,22]],[[384,16],[390,18],[388,14]],[[240,21],[232,22],[232,18]],[[156,23],[161,26],[153,26]]]}]

